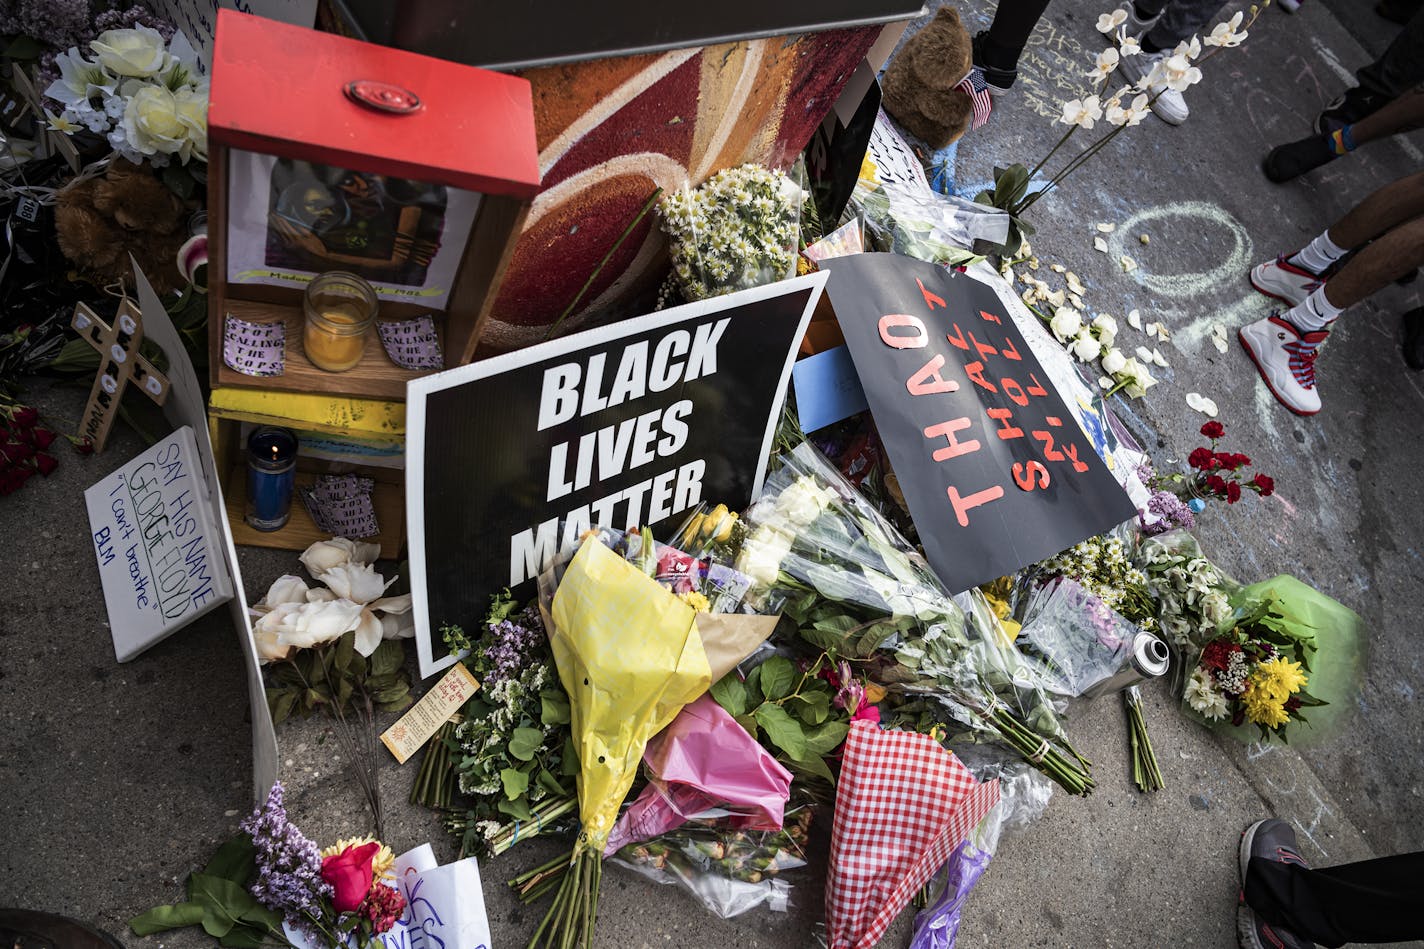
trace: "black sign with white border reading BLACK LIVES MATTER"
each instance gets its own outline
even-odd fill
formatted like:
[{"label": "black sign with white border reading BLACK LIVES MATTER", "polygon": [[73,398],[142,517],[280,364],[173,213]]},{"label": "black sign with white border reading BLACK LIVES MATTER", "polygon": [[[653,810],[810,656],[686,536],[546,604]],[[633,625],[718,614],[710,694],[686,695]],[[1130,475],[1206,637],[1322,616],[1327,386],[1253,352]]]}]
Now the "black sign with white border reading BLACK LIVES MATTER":
[{"label": "black sign with white border reading BLACK LIVES MATTER", "polygon": [[420,673],[453,658],[490,594],[590,527],[659,534],[701,502],[760,489],[824,274],[782,281],[413,380],[406,509]]}]

